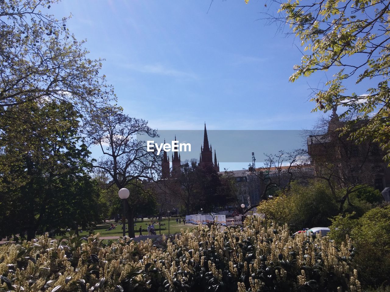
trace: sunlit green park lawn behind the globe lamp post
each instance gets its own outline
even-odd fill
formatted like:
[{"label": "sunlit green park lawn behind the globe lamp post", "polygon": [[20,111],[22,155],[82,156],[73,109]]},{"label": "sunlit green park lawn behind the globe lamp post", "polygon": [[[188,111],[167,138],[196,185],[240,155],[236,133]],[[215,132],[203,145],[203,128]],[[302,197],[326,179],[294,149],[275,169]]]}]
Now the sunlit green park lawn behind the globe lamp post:
[{"label": "sunlit green park lawn behind the globe lamp post", "polygon": [[[111,223],[113,223],[114,225],[117,224],[117,226],[115,227],[115,229],[113,230],[110,230],[110,231],[106,231],[106,229],[108,229],[111,225]],[[109,220],[107,221],[107,223],[105,224],[98,224],[96,225],[96,228],[94,229],[95,230],[95,234],[97,232],[99,232],[100,236],[101,237],[106,237],[106,236],[122,236],[122,225],[119,225],[120,222],[118,223],[115,223],[114,220]],[[141,221],[136,221],[135,222],[135,226],[134,226],[134,230],[135,230],[135,235],[139,235],[139,229],[140,229],[140,226],[142,226],[142,235],[147,235],[147,225],[151,223],[151,219],[147,219],[147,218],[144,218],[144,221],[141,222]],[[161,234],[168,234],[168,218],[163,218],[163,220],[161,220],[161,223],[165,223],[165,225],[162,225],[161,226]],[[169,223],[169,232],[172,234],[172,233],[176,233],[176,232],[180,232],[180,229],[184,228],[184,229],[187,229],[189,228],[190,230],[192,228],[194,228],[196,225],[193,225],[193,224],[187,224],[184,225],[183,224],[183,221],[181,222],[181,224],[179,223],[176,223],[176,218],[170,218],[170,223]],[[126,222],[126,227],[127,227],[127,222]],[[158,223],[157,224],[154,224],[154,228],[156,229],[156,234],[160,234],[160,228],[158,226]],[[126,228],[126,235],[128,234],[128,229]],[[84,235],[84,232],[80,234],[81,236]]]}]

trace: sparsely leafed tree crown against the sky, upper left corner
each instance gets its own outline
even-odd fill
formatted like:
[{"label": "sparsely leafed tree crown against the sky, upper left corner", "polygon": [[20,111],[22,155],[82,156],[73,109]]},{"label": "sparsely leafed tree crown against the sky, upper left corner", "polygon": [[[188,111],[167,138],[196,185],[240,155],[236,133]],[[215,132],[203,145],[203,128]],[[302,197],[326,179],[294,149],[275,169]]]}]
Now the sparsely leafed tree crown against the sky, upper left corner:
[{"label": "sparsely leafed tree crown against the sky, upper left corner", "polygon": [[[43,11],[56,0],[0,1],[0,111],[43,99],[72,102],[79,111],[107,104],[112,86],[66,28],[69,18]],[[18,118],[17,116],[15,118]]]}]

